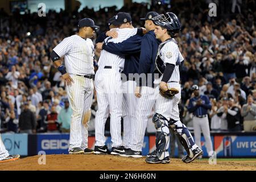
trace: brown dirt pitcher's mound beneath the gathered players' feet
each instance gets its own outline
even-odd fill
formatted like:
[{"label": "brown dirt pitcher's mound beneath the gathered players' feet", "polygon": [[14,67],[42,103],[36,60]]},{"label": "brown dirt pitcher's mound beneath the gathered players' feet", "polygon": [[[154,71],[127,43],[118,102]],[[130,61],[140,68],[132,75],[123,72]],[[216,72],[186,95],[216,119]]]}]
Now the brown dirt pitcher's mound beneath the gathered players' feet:
[{"label": "brown dirt pitcher's mound beneath the gathered players' feet", "polygon": [[[210,165],[208,159],[195,160],[185,164],[181,159],[171,159],[170,164],[147,164],[145,158],[124,158],[113,155],[46,155],[46,164],[39,164],[40,156],[30,156],[13,162],[0,163],[2,170],[82,170],[82,171],[191,171],[191,170],[254,170],[256,160],[217,159],[216,165]],[[42,158],[40,158],[42,159]],[[43,160],[40,160],[41,162]]]}]

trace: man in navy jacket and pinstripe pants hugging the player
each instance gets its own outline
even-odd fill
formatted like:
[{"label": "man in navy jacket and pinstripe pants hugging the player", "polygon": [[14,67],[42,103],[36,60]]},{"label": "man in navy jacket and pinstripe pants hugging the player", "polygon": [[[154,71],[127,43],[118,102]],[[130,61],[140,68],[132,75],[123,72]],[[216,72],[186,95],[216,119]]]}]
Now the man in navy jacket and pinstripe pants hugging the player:
[{"label": "man in navy jacket and pinstripe pants hugging the player", "polygon": [[[125,65],[122,71],[123,102],[122,102],[122,117],[123,117],[123,146],[128,149],[131,145],[131,140],[134,137],[135,127],[137,126],[136,111],[137,98],[134,95],[135,78],[134,74],[138,73],[139,55],[141,53],[141,35],[131,36],[129,39],[121,43],[109,42],[103,44],[102,49],[114,53],[115,55],[125,56]],[[129,150],[126,150],[126,153]],[[126,156],[126,155],[125,155]],[[142,157],[142,155],[139,155]]]}]

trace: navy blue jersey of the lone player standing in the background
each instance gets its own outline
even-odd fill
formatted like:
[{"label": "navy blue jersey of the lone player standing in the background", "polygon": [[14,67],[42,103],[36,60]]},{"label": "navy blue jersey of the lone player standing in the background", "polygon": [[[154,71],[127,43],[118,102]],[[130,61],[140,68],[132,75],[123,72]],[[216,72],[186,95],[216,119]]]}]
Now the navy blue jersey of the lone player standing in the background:
[{"label": "navy blue jersey of the lone player standing in the background", "polygon": [[[196,101],[199,100],[199,98],[203,102],[201,106],[196,105]],[[208,96],[200,95],[199,97],[193,97],[189,100],[188,111],[189,113],[193,113],[193,115],[206,115],[208,109],[212,109]]]}]

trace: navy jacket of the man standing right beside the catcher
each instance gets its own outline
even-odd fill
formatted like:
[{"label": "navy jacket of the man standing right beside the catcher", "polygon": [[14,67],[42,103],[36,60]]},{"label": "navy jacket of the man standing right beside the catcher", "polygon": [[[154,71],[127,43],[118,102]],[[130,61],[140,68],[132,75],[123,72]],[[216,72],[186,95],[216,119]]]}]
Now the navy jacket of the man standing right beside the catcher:
[{"label": "navy jacket of the man standing right beside the catcher", "polygon": [[[141,56],[139,57],[139,75],[141,73],[154,73],[155,70],[155,58],[158,53],[158,46],[160,41],[155,38],[154,30],[147,32],[142,38],[141,42]],[[151,85],[154,87],[154,76],[152,75]],[[141,81],[137,83],[139,86],[146,86]],[[149,83],[148,83],[149,84]],[[148,85],[147,84],[147,85]]]}]

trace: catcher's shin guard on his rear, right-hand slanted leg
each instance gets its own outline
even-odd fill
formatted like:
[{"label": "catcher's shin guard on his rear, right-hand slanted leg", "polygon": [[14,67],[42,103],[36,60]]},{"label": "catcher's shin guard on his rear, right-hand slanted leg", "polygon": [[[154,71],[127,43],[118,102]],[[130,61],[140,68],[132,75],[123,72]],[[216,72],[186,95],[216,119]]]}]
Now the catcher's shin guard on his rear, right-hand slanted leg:
[{"label": "catcher's shin guard on his rear, right-hand slanted leg", "polygon": [[179,138],[180,143],[185,148],[188,156],[192,158],[192,146],[195,144],[195,142],[189,133],[188,128],[180,121],[175,121],[174,119],[170,119],[169,128],[174,131],[175,135]]}]

